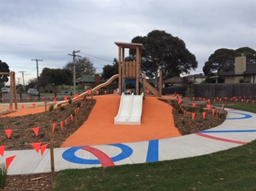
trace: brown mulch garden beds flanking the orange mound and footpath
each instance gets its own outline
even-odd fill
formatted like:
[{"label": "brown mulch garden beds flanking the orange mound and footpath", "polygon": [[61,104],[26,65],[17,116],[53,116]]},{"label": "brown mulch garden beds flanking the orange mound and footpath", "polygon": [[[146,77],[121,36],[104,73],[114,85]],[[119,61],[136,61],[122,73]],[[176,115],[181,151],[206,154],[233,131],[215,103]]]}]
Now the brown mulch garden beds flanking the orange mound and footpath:
[{"label": "brown mulch garden beds flanking the orange mound and footpath", "polygon": [[[55,123],[55,141],[54,147],[59,147],[74,131],[76,131],[88,118],[91,109],[94,107],[96,100],[87,99],[80,107],[77,103],[46,111],[41,114],[33,114],[14,118],[1,118],[0,132],[1,145],[5,145],[5,150],[25,150],[33,149],[31,143],[50,141],[50,125]],[[71,114],[79,107],[76,118],[71,121]],[[188,108],[185,108],[188,109]],[[173,119],[175,126],[182,135],[203,131],[214,126],[218,126],[225,121],[225,115],[221,118],[212,116],[210,112],[205,115],[200,113],[199,108],[194,109],[195,119],[190,120],[185,114],[180,114],[178,109],[173,109]],[[68,118],[68,124],[65,121]],[[76,120],[76,122],[74,122]],[[61,130],[60,122],[63,122]],[[33,132],[34,127],[40,127],[38,136]],[[13,129],[10,139],[5,135],[5,129]],[[33,174],[33,175],[10,175],[7,178],[4,190],[51,190],[55,175],[51,173]],[[0,189],[2,190],[2,189]]]}]

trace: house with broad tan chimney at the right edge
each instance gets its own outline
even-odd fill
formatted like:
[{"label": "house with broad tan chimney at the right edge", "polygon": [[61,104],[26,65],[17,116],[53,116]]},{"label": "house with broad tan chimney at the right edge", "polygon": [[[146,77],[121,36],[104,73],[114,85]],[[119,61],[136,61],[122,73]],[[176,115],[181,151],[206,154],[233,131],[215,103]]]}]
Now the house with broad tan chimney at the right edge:
[{"label": "house with broad tan chimney at the right edge", "polygon": [[256,64],[246,65],[246,57],[235,58],[235,69],[223,73],[225,84],[236,84],[240,82],[256,83]]}]

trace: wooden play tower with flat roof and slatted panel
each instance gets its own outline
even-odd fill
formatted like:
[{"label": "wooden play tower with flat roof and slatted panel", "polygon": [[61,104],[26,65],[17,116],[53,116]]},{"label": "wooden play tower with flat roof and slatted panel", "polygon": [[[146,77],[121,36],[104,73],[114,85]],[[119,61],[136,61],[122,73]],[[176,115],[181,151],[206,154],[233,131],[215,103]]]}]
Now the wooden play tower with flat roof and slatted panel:
[{"label": "wooden play tower with flat roof and slatted panel", "polygon": [[[143,91],[145,93],[145,88],[150,90],[152,94],[157,97],[161,96],[161,89],[162,89],[162,73],[160,72],[159,78],[159,90],[156,90],[153,86],[151,86],[145,79],[145,75],[141,75],[141,50],[144,50],[143,44],[136,44],[136,43],[124,43],[124,42],[115,42],[115,44],[119,48],[119,66],[118,66],[118,73],[119,73],[119,81],[118,81],[118,88],[119,94],[124,92],[126,88],[127,82],[134,82],[135,84],[135,92],[134,94],[141,93],[141,84],[143,84]],[[136,50],[136,60],[134,61],[125,61],[125,49],[132,48]]]}]

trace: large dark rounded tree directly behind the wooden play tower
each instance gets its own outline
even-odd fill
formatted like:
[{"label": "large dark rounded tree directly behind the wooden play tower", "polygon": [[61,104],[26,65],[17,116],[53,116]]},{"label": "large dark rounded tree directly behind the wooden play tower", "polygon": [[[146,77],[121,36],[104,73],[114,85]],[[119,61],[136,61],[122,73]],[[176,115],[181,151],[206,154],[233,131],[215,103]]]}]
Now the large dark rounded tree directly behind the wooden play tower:
[{"label": "large dark rounded tree directly behind the wooden play tower", "polygon": [[[163,78],[169,78],[197,68],[195,55],[189,52],[184,41],[165,31],[154,30],[145,37],[134,37],[132,43],[143,44],[141,64],[155,76],[159,70],[162,70]],[[130,49],[126,60],[135,59],[136,50]]]}]

